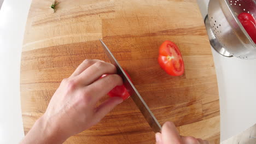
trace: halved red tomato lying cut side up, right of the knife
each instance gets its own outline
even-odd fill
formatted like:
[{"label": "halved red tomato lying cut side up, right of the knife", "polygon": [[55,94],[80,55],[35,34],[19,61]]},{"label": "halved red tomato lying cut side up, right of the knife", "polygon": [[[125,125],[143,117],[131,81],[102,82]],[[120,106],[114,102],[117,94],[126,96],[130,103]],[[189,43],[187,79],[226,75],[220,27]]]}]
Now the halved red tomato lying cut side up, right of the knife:
[{"label": "halved red tomato lying cut side up, right of the knife", "polygon": [[184,63],[178,46],[170,40],[159,47],[158,63],[167,74],[179,76],[184,73]]}]

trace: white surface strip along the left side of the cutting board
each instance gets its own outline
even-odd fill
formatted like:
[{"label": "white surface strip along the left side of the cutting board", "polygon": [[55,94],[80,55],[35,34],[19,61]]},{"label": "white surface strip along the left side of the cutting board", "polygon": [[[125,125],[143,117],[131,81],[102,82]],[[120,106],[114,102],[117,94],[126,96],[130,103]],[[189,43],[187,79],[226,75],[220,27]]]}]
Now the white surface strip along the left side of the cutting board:
[{"label": "white surface strip along the left side of the cutting board", "polygon": [[0,143],[24,136],[20,108],[20,58],[31,0],[5,0],[0,10]]}]

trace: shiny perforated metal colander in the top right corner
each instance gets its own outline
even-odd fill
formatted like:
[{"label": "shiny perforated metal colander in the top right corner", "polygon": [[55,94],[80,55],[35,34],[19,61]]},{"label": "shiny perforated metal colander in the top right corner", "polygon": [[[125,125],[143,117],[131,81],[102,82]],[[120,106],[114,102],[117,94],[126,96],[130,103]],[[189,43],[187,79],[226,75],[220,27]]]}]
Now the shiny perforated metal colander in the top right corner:
[{"label": "shiny perforated metal colander in the top right corner", "polygon": [[256,45],[238,20],[240,13],[256,16],[255,0],[210,0],[205,25],[212,47],[223,56],[256,58]]}]

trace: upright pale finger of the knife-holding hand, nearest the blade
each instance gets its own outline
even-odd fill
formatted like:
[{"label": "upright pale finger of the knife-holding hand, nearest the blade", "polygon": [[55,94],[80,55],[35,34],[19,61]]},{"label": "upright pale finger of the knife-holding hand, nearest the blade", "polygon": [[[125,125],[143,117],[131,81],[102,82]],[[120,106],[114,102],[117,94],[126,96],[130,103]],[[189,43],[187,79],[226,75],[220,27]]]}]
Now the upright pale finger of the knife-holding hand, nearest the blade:
[{"label": "upright pale finger of the knife-holding hand, nearest the blade", "polygon": [[162,143],[181,143],[181,137],[172,122],[166,122],[162,126]]}]

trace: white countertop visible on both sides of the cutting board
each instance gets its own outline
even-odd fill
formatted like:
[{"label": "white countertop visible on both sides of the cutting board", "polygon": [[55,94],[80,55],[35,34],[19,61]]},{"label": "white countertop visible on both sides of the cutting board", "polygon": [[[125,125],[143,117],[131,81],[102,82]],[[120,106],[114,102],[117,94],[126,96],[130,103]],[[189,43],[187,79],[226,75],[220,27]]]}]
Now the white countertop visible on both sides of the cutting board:
[{"label": "white countertop visible on both sides of the cutting board", "polygon": [[[198,0],[203,17],[208,0]],[[5,0],[0,10],[0,143],[24,136],[20,109],[20,58],[31,0]],[[256,59],[226,58],[212,49],[220,97],[221,141],[256,122]]]}]

